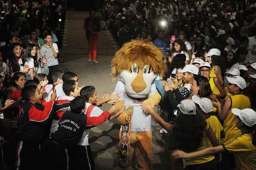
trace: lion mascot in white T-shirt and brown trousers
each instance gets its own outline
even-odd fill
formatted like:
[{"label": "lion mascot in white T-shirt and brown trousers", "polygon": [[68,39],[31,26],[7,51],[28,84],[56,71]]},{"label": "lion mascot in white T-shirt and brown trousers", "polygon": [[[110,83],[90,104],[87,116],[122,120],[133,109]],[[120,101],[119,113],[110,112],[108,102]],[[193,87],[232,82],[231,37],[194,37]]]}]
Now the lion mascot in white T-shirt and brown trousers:
[{"label": "lion mascot in white T-shirt and brown trousers", "polygon": [[[140,105],[143,102],[154,107],[161,100],[154,81],[160,73],[167,70],[163,58],[162,51],[150,41],[132,40],[124,44],[112,60],[112,76],[118,77],[114,93],[121,96],[117,104],[134,108],[130,120],[128,167],[124,169],[132,170],[131,162],[134,153],[139,170],[152,169],[151,115],[144,112]],[[126,111],[122,112],[118,116],[118,121],[126,124],[127,116]]]}]

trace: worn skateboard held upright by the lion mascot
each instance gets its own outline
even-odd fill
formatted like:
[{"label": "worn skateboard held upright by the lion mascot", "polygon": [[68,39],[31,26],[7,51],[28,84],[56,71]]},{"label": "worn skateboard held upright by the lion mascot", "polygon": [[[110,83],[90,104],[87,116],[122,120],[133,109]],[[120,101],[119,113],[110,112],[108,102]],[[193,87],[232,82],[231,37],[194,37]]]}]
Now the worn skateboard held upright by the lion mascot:
[{"label": "worn skateboard held upright by the lion mascot", "polygon": [[126,109],[126,113],[128,116],[126,117],[126,124],[122,124],[122,132],[121,138],[119,142],[119,150],[115,150],[114,154],[118,155],[118,163],[122,167],[128,166],[128,154],[130,150],[130,134],[132,128],[132,114],[133,114],[133,107],[130,106]]}]

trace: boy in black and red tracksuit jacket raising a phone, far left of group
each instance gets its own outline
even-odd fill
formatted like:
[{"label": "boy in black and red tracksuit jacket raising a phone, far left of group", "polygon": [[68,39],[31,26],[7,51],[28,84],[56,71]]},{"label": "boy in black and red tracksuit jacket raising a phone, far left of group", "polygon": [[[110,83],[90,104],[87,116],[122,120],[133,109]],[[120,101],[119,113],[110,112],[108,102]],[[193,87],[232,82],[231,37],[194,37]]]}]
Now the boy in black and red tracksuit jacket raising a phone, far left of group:
[{"label": "boy in black and red tracksuit jacket raising a phone, far left of group", "polygon": [[16,132],[19,140],[16,166],[19,170],[38,170],[41,164],[40,143],[45,137],[46,124],[54,112],[56,91],[54,89],[49,102],[42,101],[40,90],[33,85],[24,87],[21,96],[25,102]]}]

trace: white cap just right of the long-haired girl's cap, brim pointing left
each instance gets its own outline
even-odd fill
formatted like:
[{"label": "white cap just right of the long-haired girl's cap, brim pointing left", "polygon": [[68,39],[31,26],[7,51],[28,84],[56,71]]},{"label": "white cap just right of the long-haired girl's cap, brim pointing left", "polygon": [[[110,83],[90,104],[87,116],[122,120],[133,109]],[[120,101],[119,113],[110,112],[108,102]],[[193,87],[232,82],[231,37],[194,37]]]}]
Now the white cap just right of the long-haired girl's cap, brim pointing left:
[{"label": "white cap just right of the long-haired girl's cap, brim pointing left", "polygon": [[208,98],[200,98],[196,95],[192,96],[193,102],[198,104],[205,113],[212,112],[212,101]]}]

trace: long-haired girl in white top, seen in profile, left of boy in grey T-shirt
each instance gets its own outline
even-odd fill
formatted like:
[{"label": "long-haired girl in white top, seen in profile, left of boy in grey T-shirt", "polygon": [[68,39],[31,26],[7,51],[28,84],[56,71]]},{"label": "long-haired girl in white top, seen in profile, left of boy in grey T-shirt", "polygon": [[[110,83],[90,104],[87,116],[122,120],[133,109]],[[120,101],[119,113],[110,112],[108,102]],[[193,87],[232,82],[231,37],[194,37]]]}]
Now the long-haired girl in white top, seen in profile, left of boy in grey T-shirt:
[{"label": "long-haired girl in white top, seen in profile, left of boy in grey T-shirt", "polygon": [[35,44],[28,44],[26,46],[26,52],[24,56],[24,66],[29,68],[28,73],[26,73],[26,80],[33,80],[34,79],[34,69],[38,68],[38,60],[37,60],[37,48]]}]

